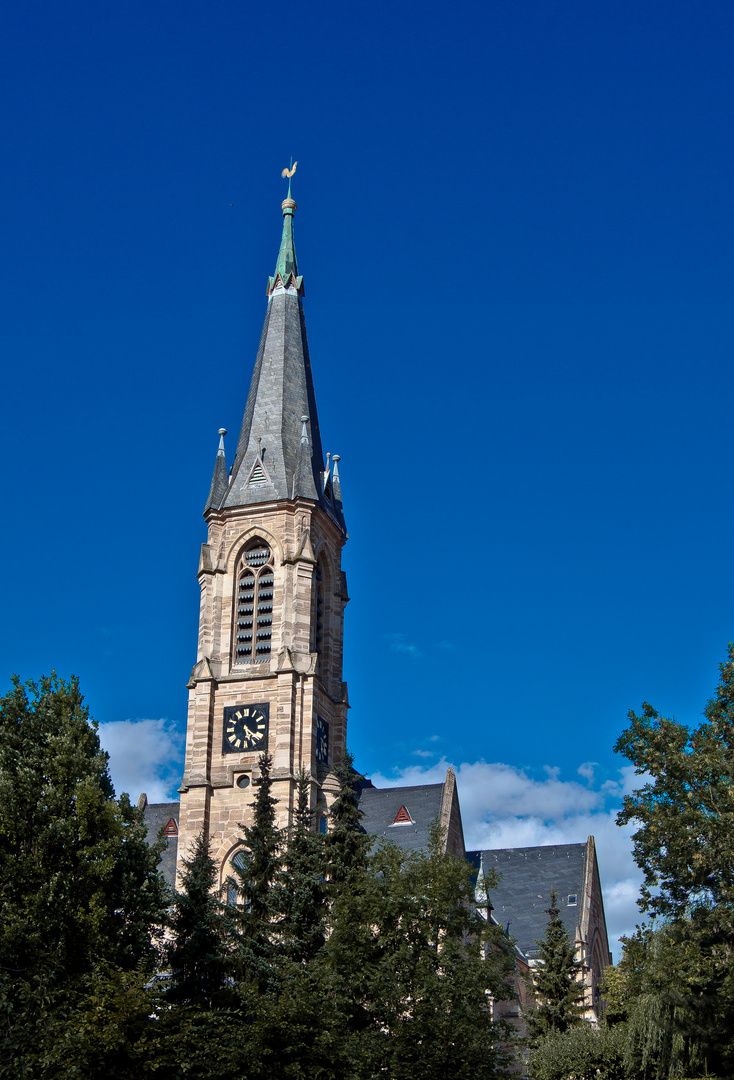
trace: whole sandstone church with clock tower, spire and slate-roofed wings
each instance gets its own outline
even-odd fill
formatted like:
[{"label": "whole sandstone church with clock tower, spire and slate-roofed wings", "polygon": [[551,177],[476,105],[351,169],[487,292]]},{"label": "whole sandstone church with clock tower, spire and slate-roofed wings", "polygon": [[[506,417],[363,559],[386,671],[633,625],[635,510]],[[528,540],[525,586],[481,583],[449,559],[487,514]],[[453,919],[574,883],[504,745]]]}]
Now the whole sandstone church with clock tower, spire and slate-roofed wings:
[{"label": "whole sandstone church with clock tower, spire and slate-roofed wings", "polygon": [[[346,750],[342,643],[349,594],[341,568],[346,526],[340,458],[322,448],[290,186],[282,210],[281,248],[268,281],[234,458],[228,468],[227,432],[220,429],[204,508],[199,644],[188,684],[180,804],[148,805],[145,795],[139,801],[149,836],[163,829],[167,838],[162,869],[171,883],[177,860],[180,865],[203,829],[226,889],[240,850],[240,823],[252,824],[253,780],[263,752],[273,759],[278,824],[291,820],[297,778],[304,770],[317,827],[326,832],[338,789],[334,770]],[[365,781],[361,807],[370,835],[405,849],[424,847],[438,820],[447,851],[467,858],[451,769],[440,784],[378,789]],[[502,873],[491,897],[493,915],[518,939],[522,962],[532,962],[534,939],[543,934],[538,913],[547,907],[550,887],[561,894],[572,939],[589,958],[593,1018],[596,986],[610,959],[593,838],[562,851],[489,850],[468,858],[477,868]]]}]

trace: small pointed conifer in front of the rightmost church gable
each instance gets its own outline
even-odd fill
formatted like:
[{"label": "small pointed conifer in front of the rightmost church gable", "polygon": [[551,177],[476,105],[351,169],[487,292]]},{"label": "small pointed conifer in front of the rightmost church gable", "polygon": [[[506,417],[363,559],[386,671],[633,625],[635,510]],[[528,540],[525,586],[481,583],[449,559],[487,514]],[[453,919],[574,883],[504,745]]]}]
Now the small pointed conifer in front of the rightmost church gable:
[{"label": "small pointed conifer in front of the rightmost church gable", "polygon": [[550,890],[550,906],[546,908],[548,924],[545,936],[538,942],[540,961],[532,969],[530,988],[536,1005],[527,1013],[528,1031],[533,1039],[549,1031],[567,1031],[581,1023],[584,985],[579,982],[582,970],[576,950],[563,926],[558,908],[558,893]]}]

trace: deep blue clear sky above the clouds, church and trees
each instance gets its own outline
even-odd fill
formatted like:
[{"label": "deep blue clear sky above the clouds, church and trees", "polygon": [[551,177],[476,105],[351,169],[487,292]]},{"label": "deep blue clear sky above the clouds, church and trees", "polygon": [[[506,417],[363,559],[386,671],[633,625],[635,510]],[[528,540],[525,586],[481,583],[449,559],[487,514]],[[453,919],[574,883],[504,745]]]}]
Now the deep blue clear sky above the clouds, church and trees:
[{"label": "deep blue clear sky above the clouds, church and trees", "polygon": [[734,637],[733,39],[723,2],[6,4],[3,679],[182,727],[294,154],[357,764],[611,777],[627,708],[695,720]]}]

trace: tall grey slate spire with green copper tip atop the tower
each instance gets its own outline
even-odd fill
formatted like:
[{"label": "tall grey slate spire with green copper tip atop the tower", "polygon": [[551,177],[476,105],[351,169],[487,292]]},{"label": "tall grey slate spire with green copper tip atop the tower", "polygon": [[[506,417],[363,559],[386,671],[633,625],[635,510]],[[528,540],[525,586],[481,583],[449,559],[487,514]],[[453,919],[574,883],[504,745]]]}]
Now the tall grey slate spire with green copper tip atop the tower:
[{"label": "tall grey slate spire with green copper tip atop the tower", "polygon": [[[303,316],[293,219],[296,203],[283,201],[283,237],[247,395],[231,480],[217,509],[281,499],[318,502],[343,528],[341,505],[325,490],[316,399]],[[213,486],[214,494],[214,486]],[[209,496],[208,507],[214,507]]]}]

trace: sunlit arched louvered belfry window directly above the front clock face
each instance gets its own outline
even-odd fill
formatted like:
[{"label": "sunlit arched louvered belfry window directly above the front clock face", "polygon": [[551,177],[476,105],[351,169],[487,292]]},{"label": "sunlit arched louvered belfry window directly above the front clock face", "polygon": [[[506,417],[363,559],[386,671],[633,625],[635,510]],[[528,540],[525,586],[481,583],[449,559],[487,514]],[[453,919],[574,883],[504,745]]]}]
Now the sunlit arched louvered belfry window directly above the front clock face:
[{"label": "sunlit arched louvered belfry window directly above the front clock face", "polygon": [[270,660],[273,635],[273,559],[270,548],[255,540],[237,568],[234,662],[261,664]]}]

